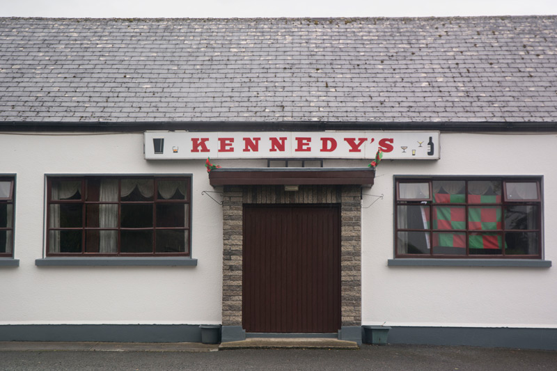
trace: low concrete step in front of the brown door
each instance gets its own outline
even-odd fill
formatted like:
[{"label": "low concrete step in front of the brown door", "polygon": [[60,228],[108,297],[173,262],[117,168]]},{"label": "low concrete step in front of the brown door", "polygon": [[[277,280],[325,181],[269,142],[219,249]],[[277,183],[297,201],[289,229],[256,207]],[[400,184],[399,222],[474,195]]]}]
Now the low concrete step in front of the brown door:
[{"label": "low concrete step in front of the brown door", "polygon": [[356,342],[330,338],[248,338],[223,342],[219,350],[231,349],[359,349]]}]

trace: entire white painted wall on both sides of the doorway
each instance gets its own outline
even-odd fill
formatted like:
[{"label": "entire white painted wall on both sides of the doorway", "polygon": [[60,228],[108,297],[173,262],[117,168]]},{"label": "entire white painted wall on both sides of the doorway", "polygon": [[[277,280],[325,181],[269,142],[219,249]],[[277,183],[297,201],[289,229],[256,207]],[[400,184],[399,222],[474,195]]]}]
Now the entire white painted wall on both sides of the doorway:
[{"label": "entire white painted wall on both sides of the doorway", "polygon": [[[221,322],[221,206],[202,160],[146,161],[143,134],[0,134],[0,174],[17,174],[15,258],[0,268],[0,324]],[[557,327],[556,267],[387,267],[393,175],[544,175],[545,258],[557,262],[555,134],[442,134],[439,161],[383,161],[362,209],[363,324]],[[227,167],[265,161],[219,161]],[[326,166],[366,161],[326,161]],[[44,254],[45,174],[193,174],[197,267],[36,267]],[[218,196],[218,195],[217,195]],[[363,206],[374,198],[365,196]]]}]

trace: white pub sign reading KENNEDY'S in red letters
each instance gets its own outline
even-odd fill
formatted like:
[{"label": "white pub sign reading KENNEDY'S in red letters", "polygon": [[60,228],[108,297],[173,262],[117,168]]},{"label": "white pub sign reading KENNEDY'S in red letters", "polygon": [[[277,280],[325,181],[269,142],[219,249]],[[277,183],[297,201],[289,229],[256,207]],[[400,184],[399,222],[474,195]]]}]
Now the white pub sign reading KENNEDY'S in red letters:
[{"label": "white pub sign reading KENNEDY'S in red letters", "polygon": [[145,132],[146,159],[439,159],[439,132]]}]

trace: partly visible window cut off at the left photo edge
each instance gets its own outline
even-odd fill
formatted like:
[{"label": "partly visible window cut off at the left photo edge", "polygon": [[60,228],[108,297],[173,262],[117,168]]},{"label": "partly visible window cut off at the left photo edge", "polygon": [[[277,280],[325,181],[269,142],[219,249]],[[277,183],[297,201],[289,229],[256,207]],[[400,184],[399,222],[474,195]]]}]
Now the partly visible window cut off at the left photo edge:
[{"label": "partly visible window cut off at the left photo edge", "polygon": [[0,177],[0,257],[13,256],[13,177]]}]

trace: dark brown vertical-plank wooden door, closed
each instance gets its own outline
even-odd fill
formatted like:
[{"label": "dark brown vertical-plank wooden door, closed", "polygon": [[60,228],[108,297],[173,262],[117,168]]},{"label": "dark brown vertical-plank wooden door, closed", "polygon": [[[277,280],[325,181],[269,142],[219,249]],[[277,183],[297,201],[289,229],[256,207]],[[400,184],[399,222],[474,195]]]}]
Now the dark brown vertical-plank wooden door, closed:
[{"label": "dark brown vertical-plank wooden door, closed", "polygon": [[340,329],[338,205],[245,205],[242,320],[247,332]]}]

